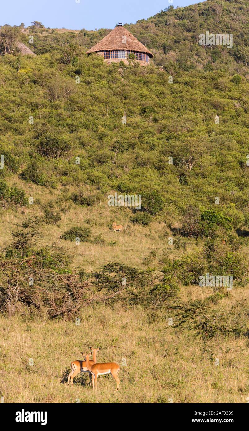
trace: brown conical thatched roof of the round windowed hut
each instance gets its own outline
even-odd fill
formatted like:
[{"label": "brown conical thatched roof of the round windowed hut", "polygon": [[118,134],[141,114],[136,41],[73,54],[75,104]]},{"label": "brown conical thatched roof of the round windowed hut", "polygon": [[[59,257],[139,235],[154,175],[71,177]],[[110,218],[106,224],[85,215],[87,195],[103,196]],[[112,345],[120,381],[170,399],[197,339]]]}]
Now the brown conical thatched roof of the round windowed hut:
[{"label": "brown conical thatched roof of the round windowed hut", "polygon": [[[123,43],[126,37],[126,44]],[[100,42],[94,45],[87,54],[96,53],[98,51],[112,51],[112,50],[131,50],[146,53],[150,57],[153,57],[151,53],[141,42],[137,40],[127,28],[122,25],[115,27],[110,33],[108,33]]]}]

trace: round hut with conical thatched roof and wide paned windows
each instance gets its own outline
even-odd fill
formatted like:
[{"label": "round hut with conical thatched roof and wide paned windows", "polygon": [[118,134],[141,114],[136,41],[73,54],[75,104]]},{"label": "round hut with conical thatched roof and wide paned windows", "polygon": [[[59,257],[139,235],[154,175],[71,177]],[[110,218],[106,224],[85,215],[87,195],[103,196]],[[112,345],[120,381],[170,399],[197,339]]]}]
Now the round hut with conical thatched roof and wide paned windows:
[{"label": "round hut with conical thatched roof and wide paned windows", "polygon": [[128,56],[134,53],[135,59],[143,66],[148,66],[153,53],[137,40],[121,23],[94,45],[87,54],[98,53],[108,62],[128,62]]}]

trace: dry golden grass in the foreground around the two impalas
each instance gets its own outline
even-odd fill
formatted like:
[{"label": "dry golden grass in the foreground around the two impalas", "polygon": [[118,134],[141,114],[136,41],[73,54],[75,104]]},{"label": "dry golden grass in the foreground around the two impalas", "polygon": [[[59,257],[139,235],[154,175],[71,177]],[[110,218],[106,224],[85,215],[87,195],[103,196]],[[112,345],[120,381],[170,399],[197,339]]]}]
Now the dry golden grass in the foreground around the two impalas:
[{"label": "dry golden grass in the foreground around the two impalas", "polygon": [[[185,290],[181,288],[182,297]],[[192,290],[199,297],[199,287]],[[232,295],[239,301],[246,292],[234,290]],[[169,398],[174,403],[246,402],[246,338],[219,335],[204,342],[167,322],[163,309],[151,315],[118,304],[84,309],[80,326],[0,316],[0,394],[8,403],[168,403]],[[70,362],[81,359],[80,352],[89,345],[101,347],[98,361],[121,365],[118,392],[110,375],[99,377],[97,394],[87,374],[76,378],[73,387],[62,383]],[[34,366],[28,365],[29,358]]]}]

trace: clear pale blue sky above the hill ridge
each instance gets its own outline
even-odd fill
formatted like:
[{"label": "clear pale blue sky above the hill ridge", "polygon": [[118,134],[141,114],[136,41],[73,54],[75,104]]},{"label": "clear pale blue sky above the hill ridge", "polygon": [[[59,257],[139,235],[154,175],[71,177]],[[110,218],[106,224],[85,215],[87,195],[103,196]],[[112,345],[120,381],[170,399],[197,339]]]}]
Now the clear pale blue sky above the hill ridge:
[{"label": "clear pale blue sky above the hill ridge", "polygon": [[[135,23],[147,19],[171,4],[188,6],[204,0],[4,0],[0,25],[31,25],[40,21],[45,27],[94,30],[113,28],[118,22]],[[79,2],[79,3],[78,3]]]}]

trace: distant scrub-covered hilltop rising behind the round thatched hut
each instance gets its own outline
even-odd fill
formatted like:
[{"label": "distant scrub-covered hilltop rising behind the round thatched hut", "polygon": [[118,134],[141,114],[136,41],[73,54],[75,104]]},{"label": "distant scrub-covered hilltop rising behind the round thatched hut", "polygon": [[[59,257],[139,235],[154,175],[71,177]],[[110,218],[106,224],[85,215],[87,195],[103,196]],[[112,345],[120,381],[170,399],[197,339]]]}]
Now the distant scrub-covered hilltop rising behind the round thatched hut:
[{"label": "distant scrub-covered hilltop rising behind the round thatched hut", "polygon": [[[249,2],[244,0],[208,0],[186,7],[169,6],[149,19],[140,19],[136,24],[124,24],[137,39],[154,53],[156,65],[191,71],[193,69],[237,70],[245,73],[243,64],[248,62],[248,21]],[[199,34],[232,33],[233,47],[200,47],[196,42]],[[76,43],[89,49],[100,41],[110,29],[97,31],[67,30],[58,28],[25,28],[23,41],[28,43],[28,35],[33,34],[35,53],[49,53],[60,50],[65,44]],[[247,58],[247,60],[246,60]],[[239,69],[238,69],[239,68]]]}]

